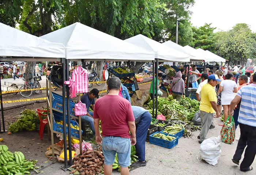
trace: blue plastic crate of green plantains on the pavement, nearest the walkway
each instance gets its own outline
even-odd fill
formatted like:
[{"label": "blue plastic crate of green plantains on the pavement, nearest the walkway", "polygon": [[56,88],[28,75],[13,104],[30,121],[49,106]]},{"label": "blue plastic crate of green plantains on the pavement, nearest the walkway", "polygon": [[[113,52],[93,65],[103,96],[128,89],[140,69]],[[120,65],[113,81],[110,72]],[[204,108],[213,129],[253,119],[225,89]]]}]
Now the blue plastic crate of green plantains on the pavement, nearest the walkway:
[{"label": "blue plastic crate of green plantains on the pavement, nearest the walkway", "polygon": [[172,141],[168,141],[168,140],[160,139],[157,137],[153,137],[153,135],[155,135],[157,133],[159,133],[159,132],[155,132],[149,136],[149,143],[152,143],[152,144],[155,144],[155,145],[158,145],[161,147],[169,148],[169,149],[175,147],[178,144],[178,136],[162,133],[166,136],[169,135],[169,136],[176,137],[176,139],[174,139]]}]

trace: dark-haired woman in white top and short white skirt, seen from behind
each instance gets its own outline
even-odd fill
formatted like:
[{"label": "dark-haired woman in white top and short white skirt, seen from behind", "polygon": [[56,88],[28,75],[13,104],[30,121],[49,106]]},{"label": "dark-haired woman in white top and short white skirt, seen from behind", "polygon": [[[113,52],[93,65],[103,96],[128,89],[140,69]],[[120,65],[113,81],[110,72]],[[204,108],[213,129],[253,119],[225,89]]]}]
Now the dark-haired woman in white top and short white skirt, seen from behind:
[{"label": "dark-haired woman in white top and short white skirt, seen from behind", "polygon": [[230,110],[230,103],[234,99],[234,93],[237,93],[237,83],[233,81],[233,76],[234,75],[232,73],[226,74],[225,80],[223,80],[219,86],[218,94],[222,92],[221,104],[224,110],[224,121],[227,120],[227,116]]}]

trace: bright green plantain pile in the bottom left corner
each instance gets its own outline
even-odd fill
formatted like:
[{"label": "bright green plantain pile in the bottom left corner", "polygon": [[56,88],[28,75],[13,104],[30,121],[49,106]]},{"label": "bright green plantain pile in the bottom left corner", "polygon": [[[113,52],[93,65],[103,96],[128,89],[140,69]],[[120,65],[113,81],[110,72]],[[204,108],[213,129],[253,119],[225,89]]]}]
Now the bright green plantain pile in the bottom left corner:
[{"label": "bright green plantain pile in the bottom left corner", "polygon": [[28,161],[22,152],[12,153],[6,145],[0,145],[0,174],[24,175],[30,174],[37,161]]}]

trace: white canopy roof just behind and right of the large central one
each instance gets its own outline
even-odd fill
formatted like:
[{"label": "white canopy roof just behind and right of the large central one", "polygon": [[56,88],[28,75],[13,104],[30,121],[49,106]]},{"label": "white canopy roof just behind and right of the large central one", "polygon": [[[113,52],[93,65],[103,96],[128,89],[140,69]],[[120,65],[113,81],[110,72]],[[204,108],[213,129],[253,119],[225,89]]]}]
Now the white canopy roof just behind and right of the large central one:
[{"label": "white canopy roof just behind and right of the large central one", "polygon": [[153,51],[155,58],[173,61],[173,62],[189,62],[189,55],[179,52],[173,48],[167,47],[153,39],[147,38],[144,35],[136,35],[125,39],[126,42],[135,44],[146,50]]}]

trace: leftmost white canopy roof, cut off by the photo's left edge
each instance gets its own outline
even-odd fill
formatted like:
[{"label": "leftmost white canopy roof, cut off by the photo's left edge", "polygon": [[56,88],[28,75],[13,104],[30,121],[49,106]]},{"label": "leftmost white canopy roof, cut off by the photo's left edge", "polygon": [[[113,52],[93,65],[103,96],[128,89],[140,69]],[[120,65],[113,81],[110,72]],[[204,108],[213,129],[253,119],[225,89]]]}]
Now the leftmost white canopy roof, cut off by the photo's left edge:
[{"label": "leftmost white canopy roof, cut off by the photo's left edge", "polygon": [[0,23],[0,57],[65,58],[65,47]]}]

